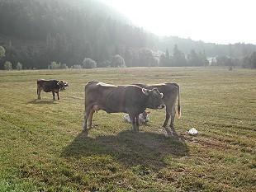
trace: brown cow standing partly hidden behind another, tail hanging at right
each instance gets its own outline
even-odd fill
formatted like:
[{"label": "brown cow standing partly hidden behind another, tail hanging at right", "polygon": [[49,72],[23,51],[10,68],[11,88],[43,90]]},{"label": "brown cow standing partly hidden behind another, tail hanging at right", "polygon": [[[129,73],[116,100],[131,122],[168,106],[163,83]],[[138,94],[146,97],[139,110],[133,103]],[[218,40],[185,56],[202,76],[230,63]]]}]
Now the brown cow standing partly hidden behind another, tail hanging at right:
[{"label": "brown cow standing partly hidden behind another, tail hanging at right", "polygon": [[171,82],[165,82],[161,84],[152,84],[152,85],[145,85],[145,84],[135,84],[139,87],[145,88],[145,89],[153,89],[157,88],[159,92],[164,93],[163,101],[166,105],[166,115],[163,127],[166,127],[168,124],[168,120],[171,117],[171,123],[170,128],[173,128],[174,124],[174,117],[175,117],[175,103],[178,97],[178,109],[177,109],[177,115],[178,118],[181,116],[181,107],[179,103],[179,86],[177,83],[171,83]]}]

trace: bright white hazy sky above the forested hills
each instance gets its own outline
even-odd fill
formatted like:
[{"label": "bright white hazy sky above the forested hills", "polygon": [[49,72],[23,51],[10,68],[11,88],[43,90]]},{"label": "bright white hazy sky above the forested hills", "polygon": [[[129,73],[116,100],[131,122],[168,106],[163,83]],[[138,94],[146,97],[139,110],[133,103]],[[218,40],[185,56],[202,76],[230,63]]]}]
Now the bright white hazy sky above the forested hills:
[{"label": "bright white hazy sky above the forested hills", "polygon": [[102,0],[156,35],[256,44],[255,0]]}]

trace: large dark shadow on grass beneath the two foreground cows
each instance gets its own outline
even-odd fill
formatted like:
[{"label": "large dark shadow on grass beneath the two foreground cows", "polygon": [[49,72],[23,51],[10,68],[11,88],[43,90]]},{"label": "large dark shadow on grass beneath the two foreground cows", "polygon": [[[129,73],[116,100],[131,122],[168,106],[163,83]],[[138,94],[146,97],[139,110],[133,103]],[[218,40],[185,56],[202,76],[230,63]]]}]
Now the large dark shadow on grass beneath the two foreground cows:
[{"label": "large dark shadow on grass beneath the two foreground cows", "polygon": [[148,166],[166,166],[169,158],[189,155],[187,144],[176,137],[166,137],[161,133],[126,130],[117,135],[88,137],[88,133],[79,133],[61,154],[61,157],[111,156],[126,166],[145,164]]}]

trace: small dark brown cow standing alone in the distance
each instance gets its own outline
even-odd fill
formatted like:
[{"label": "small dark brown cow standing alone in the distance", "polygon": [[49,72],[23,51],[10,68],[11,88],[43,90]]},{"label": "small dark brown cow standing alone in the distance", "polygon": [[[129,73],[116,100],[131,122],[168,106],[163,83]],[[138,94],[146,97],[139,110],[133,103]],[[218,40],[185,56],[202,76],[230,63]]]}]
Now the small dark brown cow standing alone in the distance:
[{"label": "small dark brown cow standing alone in the distance", "polygon": [[37,98],[40,100],[41,91],[52,92],[55,100],[55,93],[57,93],[59,100],[59,89],[61,89],[64,85],[57,80],[45,80],[40,79],[37,80]]}]

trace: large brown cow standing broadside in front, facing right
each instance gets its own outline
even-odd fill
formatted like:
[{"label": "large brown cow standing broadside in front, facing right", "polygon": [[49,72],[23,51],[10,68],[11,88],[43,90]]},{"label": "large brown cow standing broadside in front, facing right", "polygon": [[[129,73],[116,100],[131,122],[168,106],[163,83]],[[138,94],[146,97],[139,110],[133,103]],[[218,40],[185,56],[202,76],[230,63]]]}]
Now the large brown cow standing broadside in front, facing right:
[{"label": "large brown cow standing broadside in front, facing right", "polygon": [[83,129],[92,128],[92,115],[97,110],[107,113],[125,112],[130,116],[132,129],[139,131],[139,115],[146,108],[162,109],[163,93],[156,88],[149,90],[135,85],[114,86],[103,82],[88,82],[85,86],[85,110]]}]

